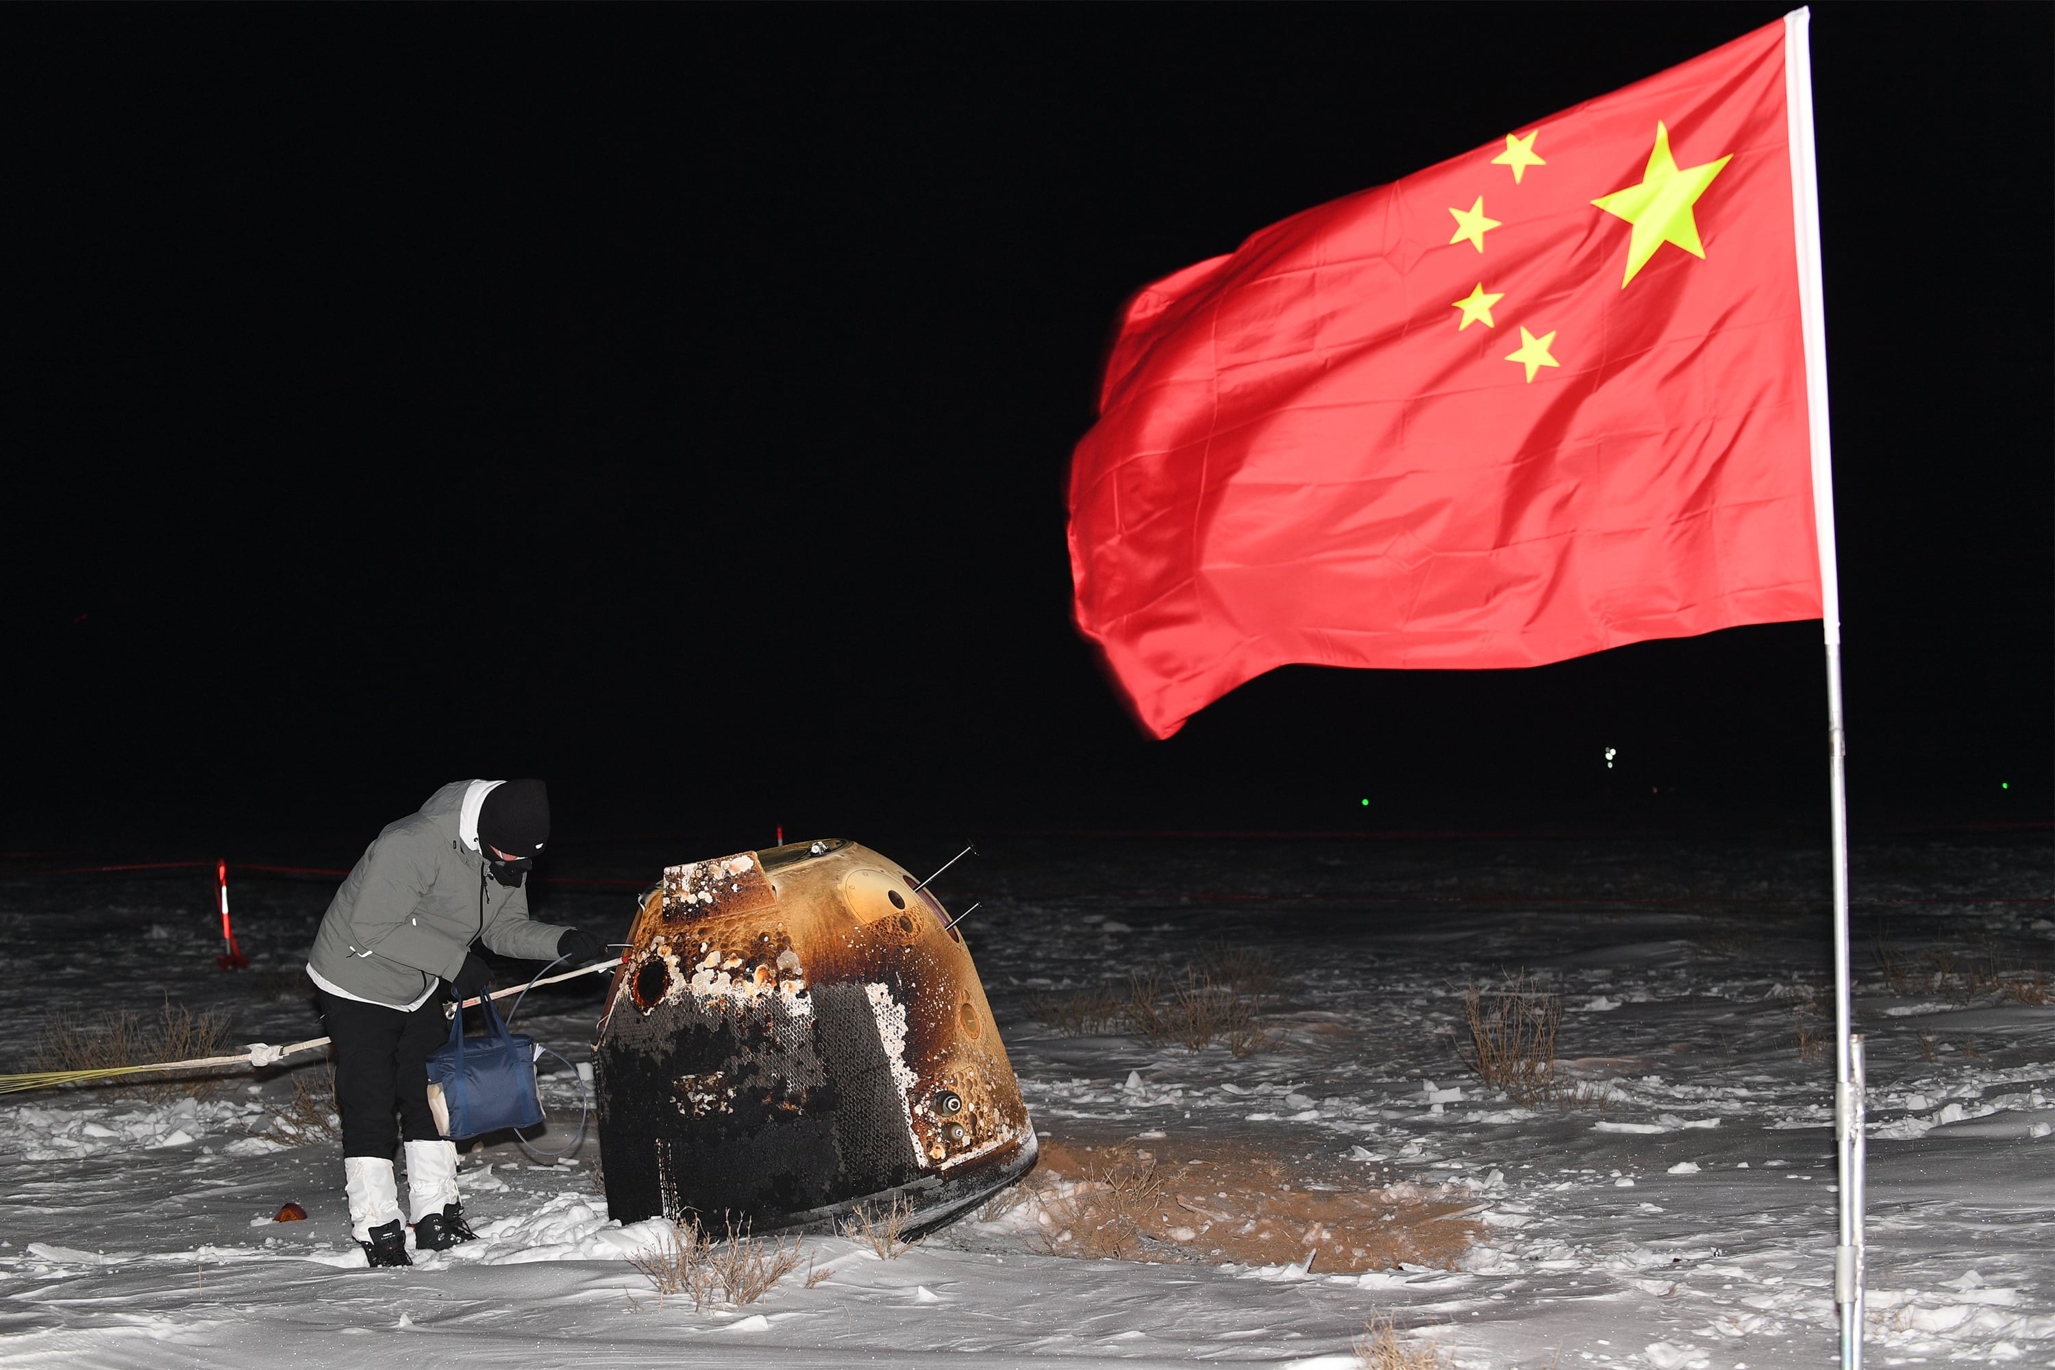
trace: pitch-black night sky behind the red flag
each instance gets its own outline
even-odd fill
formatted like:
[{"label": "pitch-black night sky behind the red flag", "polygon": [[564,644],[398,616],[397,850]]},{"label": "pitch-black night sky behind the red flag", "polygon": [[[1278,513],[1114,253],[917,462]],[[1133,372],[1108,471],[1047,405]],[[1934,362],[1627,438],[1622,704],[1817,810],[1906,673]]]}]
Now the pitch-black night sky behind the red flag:
[{"label": "pitch-black night sky behind the red flag", "polygon": [[[6,846],[1819,828],[1819,624],[1147,741],[1062,540],[1134,288],[1780,12],[16,6]],[[1858,838],[2049,815],[2051,29],[1815,10]]]}]

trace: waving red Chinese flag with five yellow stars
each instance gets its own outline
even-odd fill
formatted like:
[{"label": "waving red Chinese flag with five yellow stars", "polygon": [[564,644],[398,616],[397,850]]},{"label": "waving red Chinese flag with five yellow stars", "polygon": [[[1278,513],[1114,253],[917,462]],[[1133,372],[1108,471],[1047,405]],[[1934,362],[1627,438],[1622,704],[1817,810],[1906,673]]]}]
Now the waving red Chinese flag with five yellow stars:
[{"label": "waving red Chinese flag with five yellow stars", "polygon": [[1071,573],[1143,725],[1819,618],[1790,127],[1778,23],[1136,294]]}]

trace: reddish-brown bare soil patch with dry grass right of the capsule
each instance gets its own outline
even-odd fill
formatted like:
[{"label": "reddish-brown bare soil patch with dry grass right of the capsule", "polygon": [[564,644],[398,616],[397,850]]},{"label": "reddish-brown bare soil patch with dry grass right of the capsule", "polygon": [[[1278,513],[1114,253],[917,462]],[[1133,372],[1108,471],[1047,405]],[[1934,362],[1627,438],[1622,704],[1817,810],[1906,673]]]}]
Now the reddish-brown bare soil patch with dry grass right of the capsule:
[{"label": "reddish-brown bare soil patch with dry grass right of the capsule", "polygon": [[1414,1185],[1362,1189],[1360,1171],[1319,1171],[1235,1142],[1175,1146],[1184,1160],[1159,1160],[1126,1142],[1046,1142],[1025,1185],[1036,1220],[1030,1247],[1083,1259],[1313,1261],[1342,1273],[1402,1261],[1449,1267],[1475,1234],[1455,1216],[1467,1200]]}]

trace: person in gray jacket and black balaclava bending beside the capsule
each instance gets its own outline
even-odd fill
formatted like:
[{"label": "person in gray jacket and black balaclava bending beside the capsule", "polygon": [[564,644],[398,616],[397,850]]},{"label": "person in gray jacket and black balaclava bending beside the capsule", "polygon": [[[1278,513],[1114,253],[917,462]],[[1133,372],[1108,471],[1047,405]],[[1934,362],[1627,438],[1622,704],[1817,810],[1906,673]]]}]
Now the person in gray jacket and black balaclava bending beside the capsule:
[{"label": "person in gray jacket and black balaclava bending beside the capsule", "polygon": [[427,1054],[448,1037],[442,990],[464,1000],[487,986],[473,943],[528,961],[606,953],[596,933],[528,916],[524,879],[545,842],[540,781],[452,781],[364,848],[321,918],[306,974],[335,1043],[349,1226],[372,1265],[411,1265],[393,1175],[395,1109],[415,1249],[475,1236],[456,1197],[456,1144],[427,1105]]}]

